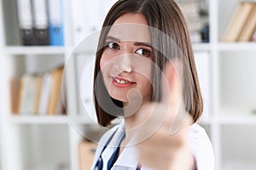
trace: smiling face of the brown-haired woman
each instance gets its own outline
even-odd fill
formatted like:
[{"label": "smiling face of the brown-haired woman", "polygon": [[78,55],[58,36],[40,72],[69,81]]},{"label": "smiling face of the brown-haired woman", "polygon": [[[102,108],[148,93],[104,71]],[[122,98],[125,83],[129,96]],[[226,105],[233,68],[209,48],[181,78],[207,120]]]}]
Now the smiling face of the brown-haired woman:
[{"label": "smiling face of the brown-haired woman", "polygon": [[135,89],[143,98],[142,102],[149,101],[151,66],[152,47],[147,20],[142,14],[122,15],[108,32],[100,61],[110,96],[125,104],[127,95]]}]

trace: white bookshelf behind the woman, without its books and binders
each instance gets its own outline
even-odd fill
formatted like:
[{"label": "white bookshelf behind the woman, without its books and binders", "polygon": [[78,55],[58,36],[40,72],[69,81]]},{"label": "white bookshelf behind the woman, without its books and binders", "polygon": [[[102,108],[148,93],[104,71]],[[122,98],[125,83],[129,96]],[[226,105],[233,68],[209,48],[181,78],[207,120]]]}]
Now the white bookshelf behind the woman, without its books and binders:
[{"label": "white bookshelf behind the woman, without its books and binders", "polygon": [[[63,0],[64,45],[61,47],[21,46],[15,2],[0,0],[0,94],[3,96],[0,98],[0,168],[77,170],[79,142],[84,138],[77,130],[86,133],[92,129],[91,120],[82,114],[83,102],[90,105],[90,95],[80,99],[78,80],[84,62],[95,48],[79,48],[79,37],[88,36],[100,26],[102,16],[114,0],[108,4],[79,1],[84,8],[100,10],[88,10],[87,17],[77,17],[75,20],[73,14],[78,14],[79,9],[84,8],[74,11],[78,4]],[[253,135],[256,127],[256,115],[253,114],[256,110],[256,42],[221,42],[225,26],[239,1],[206,2],[210,42],[193,44],[195,54],[208,57],[208,75],[204,77],[209,82],[206,92],[207,116],[200,123],[212,140],[217,170],[250,170],[256,166],[256,150],[253,147],[256,142]],[[96,11],[100,11],[100,14],[96,14]],[[88,17],[90,14],[96,14],[96,22],[91,21],[91,17]],[[84,28],[84,25],[77,24],[78,20],[88,26]],[[30,67],[27,70],[27,62],[33,65],[52,63],[42,64],[42,67],[53,68],[67,61],[67,116],[14,116],[11,113],[10,77],[38,69]],[[90,87],[86,90],[90,91]]]}]

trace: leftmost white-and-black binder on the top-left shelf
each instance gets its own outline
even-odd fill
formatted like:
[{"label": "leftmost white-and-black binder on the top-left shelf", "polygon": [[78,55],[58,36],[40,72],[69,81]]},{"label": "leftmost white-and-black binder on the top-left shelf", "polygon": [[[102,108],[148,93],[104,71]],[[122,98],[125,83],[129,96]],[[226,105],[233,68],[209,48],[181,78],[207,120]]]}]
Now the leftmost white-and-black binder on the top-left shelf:
[{"label": "leftmost white-and-black binder on the top-left shelf", "polygon": [[22,45],[35,45],[31,1],[17,0],[17,11]]}]

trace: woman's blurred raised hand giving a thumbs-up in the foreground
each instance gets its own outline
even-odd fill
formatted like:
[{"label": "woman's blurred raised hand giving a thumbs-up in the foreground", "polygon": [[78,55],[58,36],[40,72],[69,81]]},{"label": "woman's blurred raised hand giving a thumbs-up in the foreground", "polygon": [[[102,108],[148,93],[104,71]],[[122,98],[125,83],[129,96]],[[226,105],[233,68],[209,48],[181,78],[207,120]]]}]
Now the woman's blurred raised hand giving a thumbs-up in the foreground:
[{"label": "woman's blurred raised hand giving a thumbs-up in the foreground", "polygon": [[178,62],[166,65],[163,101],[144,105],[140,110],[144,123],[137,128],[136,136],[138,158],[143,166],[157,170],[195,169],[188,139],[192,118],[183,106],[178,71]]}]

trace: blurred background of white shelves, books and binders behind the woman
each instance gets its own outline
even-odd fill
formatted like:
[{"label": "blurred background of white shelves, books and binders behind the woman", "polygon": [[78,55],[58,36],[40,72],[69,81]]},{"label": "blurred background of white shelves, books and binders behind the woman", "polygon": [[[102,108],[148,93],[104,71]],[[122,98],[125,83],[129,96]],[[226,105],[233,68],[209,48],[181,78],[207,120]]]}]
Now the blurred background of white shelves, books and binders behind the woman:
[{"label": "blurred background of white shelves, books and binders behind the woman", "polygon": [[[90,169],[96,38],[116,0],[0,0],[0,169]],[[256,169],[256,1],[177,0],[217,170]],[[85,41],[83,41],[85,38]],[[87,114],[89,113],[89,114]]]}]

